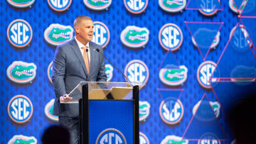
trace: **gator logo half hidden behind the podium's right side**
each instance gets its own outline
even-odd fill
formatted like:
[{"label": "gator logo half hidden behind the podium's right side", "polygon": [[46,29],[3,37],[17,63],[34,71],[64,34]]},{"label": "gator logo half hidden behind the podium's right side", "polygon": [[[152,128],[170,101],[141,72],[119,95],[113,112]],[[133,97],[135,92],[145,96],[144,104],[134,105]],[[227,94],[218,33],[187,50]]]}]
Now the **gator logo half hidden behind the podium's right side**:
[{"label": "gator logo half hidden behind the podium's right side", "polygon": [[145,121],[149,117],[150,104],[147,101],[139,101],[139,121]]}]

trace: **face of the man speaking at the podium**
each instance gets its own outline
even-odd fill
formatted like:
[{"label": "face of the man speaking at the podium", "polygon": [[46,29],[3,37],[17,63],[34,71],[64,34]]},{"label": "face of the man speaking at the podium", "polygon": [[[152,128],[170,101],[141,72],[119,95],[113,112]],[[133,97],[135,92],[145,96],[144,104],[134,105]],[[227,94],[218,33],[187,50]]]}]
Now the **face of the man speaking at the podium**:
[{"label": "face of the man speaking at the podium", "polygon": [[86,45],[93,37],[93,22],[90,20],[83,20],[79,26],[75,27],[76,35],[81,43]]}]

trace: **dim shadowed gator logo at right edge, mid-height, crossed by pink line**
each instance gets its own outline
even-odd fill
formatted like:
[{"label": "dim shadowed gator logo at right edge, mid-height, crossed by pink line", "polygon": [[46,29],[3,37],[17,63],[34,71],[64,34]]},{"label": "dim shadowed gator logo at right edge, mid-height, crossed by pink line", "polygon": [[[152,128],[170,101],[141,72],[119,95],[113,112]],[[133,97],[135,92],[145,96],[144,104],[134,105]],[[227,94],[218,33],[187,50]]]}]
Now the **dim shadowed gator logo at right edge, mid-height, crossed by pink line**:
[{"label": "dim shadowed gator logo at right edge, mid-height, crossed by pink line", "polygon": [[230,77],[231,81],[236,84],[250,84],[255,82],[256,68],[238,65],[232,70]]}]

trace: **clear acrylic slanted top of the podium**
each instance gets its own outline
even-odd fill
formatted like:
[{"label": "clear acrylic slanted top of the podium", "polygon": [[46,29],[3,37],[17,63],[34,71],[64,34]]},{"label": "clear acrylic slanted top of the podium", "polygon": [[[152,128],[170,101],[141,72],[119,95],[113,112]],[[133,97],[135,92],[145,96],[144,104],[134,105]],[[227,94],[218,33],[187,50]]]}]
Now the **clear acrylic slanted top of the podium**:
[{"label": "clear acrylic slanted top of the podium", "polygon": [[82,98],[82,86],[88,85],[89,99],[107,100],[130,100],[133,99],[133,86],[139,85],[138,82],[80,82],[68,96],[73,99],[64,104],[78,104]]}]

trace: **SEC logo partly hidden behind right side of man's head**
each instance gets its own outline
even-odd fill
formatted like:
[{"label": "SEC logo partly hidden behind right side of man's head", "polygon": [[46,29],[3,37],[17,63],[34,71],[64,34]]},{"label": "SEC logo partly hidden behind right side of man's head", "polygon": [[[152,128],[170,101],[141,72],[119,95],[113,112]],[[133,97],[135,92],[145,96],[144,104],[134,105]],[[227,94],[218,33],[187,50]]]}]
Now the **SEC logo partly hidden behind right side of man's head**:
[{"label": "SEC logo partly hidden behind right side of man's head", "polygon": [[94,33],[92,41],[105,48],[110,42],[110,30],[100,21],[95,21],[93,24]]}]

